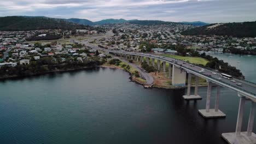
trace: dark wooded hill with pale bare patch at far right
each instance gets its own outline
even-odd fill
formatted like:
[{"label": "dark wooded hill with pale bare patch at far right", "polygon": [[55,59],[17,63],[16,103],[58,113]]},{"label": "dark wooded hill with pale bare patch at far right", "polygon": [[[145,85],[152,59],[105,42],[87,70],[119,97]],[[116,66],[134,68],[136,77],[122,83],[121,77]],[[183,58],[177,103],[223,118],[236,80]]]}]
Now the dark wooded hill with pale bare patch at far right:
[{"label": "dark wooded hill with pale bare patch at far right", "polygon": [[256,37],[256,21],[214,23],[182,32],[183,35],[228,35],[232,37]]}]

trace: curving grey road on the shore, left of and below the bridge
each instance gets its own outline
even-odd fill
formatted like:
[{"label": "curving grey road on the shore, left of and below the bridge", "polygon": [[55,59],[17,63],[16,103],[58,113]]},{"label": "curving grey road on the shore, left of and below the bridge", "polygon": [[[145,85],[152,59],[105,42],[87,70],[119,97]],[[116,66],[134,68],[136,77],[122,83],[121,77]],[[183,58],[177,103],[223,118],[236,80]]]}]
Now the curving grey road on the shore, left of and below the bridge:
[{"label": "curving grey road on the shore, left of and below the bridge", "polygon": [[154,84],[154,77],[149,75],[149,73],[147,73],[144,69],[142,69],[138,65],[136,65],[134,63],[130,63],[129,61],[126,61],[126,59],[121,59],[120,57],[114,57],[114,58],[118,58],[121,61],[124,61],[124,62],[130,64],[133,68],[136,68],[138,70],[138,72],[141,73],[141,77],[147,81],[146,85],[152,86]]}]

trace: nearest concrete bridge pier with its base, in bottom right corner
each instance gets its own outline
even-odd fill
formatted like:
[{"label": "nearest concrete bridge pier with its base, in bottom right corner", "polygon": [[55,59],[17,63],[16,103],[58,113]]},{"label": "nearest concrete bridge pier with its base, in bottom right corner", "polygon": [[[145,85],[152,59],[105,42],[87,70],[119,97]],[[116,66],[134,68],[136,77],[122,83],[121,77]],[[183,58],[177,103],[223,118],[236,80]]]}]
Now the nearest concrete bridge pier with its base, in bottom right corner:
[{"label": "nearest concrete bridge pier with its base, in bottom right corner", "polygon": [[[228,143],[237,143],[237,144],[249,144],[256,143],[256,134],[252,132],[253,122],[254,122],[254,114],[255,114],[255,101],[246,99],[246,97],[240,96],[240,103],[238,108],[237,122],[236,122],[236,131],[235,133],[223,133],[222,137]],[[241,132],[242,122],[243,122],[243,113],[245,110],[245,102],[251,101],[251,110],[249,114],[249,121],[247,131]]]}]

